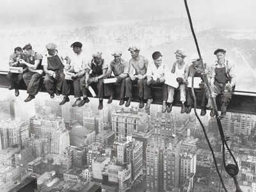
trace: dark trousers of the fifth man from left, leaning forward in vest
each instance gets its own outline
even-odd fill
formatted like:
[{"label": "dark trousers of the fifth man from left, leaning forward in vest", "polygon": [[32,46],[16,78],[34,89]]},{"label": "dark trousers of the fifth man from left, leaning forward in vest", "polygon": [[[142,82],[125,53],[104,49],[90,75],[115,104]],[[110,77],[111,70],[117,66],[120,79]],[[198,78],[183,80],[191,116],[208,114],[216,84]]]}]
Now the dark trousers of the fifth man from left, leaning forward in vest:
[{"label": "dark trousers of the fifth man from left, leaning forward in vest", "polygon": [[[85,76],[80,79],[80,84],[82,87],[83,97],[87,97],[89,92],[88,88],[85,87]],[[97,94],[99,99],[103,99],[104,96],[104,83],[102,79],[99,79],[98,82],[93,82],[89,86],[92,87],[93,91]]]}]

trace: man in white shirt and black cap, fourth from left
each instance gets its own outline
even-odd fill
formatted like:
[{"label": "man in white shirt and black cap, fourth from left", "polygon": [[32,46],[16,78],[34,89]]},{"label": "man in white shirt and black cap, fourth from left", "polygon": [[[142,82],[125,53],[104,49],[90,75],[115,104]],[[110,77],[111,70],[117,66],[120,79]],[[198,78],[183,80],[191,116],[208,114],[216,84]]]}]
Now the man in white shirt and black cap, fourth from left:
[{"label": "man in white shirt and black cap, fourth from left", "polygon": [[[81,86],[80,80],[85,74],[86,65],[88,60],[83,53],[82,50],[83,44],[80,42],[74,42],[70,47],[73,48],[74,56],[71,58],[70,65],[66,65],[64,68],[64,72],[72,72],[74,76],[72,76],[72,80],[64,79],[63,87],[62,87],[62,95],[64,95],[63,100],[60,102],[60,105],[65,104],[69,101],[68,95],[70,95],[70,86],[73,84],[74,86],[74,97],[76,98],[76,102],[72,105],[72,107],[76,107],[81,102]],[[89,102],[89,99],[85,98],[86,102]]]}]

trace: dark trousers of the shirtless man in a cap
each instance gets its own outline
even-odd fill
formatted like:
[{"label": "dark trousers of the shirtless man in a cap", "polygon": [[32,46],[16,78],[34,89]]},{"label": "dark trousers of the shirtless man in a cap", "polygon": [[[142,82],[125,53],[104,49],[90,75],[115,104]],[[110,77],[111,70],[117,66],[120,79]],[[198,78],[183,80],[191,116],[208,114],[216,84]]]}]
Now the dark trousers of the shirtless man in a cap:
[{"label": "dark trousers of the shirtless man in a cap", "polygon": [[138,85],[138,97],[141,99],[151,99],[151,89],[147,84],[147,79],[135,79],[132,81],[131,77],[125,79],[125,97],[132,97],[132,84]]}]

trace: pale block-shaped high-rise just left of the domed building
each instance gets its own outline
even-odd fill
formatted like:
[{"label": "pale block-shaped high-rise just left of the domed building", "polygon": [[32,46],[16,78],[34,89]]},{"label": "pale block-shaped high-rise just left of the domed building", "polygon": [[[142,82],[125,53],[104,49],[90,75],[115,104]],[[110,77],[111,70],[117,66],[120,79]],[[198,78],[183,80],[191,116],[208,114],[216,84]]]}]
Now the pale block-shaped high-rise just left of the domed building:
[{"label": "pale block-shaped high-rise just left of the domed building", "polygon": [[51,153],[61,154],[65,148],[70,146],[70,139],[67,129],[52,131],[51,134]]}]

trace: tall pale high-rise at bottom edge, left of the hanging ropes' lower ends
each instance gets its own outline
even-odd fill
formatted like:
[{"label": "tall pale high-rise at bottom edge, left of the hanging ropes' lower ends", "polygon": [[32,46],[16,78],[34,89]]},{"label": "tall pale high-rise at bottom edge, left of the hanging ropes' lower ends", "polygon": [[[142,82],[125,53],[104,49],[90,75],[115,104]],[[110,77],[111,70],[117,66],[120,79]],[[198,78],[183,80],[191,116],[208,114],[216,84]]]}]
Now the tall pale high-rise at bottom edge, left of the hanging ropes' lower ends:
[{"label": "tall pale high-rise at bottom edge, left of the hanging ropes' lower ends", "polygon": [[184,185],[190,173],[196,173],[196,154],[185,152],[180,154],[180,186]]}]

